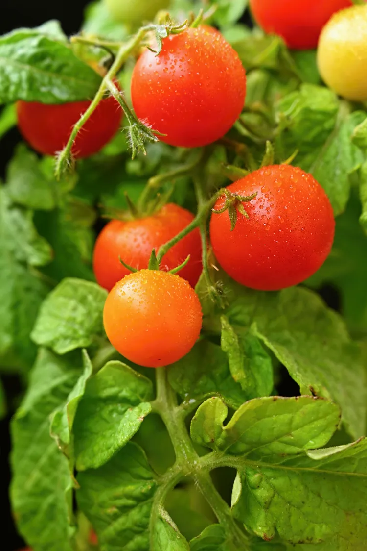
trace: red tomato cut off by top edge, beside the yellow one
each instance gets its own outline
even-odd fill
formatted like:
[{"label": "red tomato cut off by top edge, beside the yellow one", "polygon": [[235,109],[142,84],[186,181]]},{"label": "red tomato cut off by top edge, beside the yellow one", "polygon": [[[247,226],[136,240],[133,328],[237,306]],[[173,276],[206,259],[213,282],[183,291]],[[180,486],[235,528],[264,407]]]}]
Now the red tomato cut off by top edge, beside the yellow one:
[{"label": "red tomato cut off by top edge, beside the yellow one", "polygon": [[339,9],[352,6],[350,0],[250,0],[256,22],[284,39],[289,48],[315,48],[322,27]]}]

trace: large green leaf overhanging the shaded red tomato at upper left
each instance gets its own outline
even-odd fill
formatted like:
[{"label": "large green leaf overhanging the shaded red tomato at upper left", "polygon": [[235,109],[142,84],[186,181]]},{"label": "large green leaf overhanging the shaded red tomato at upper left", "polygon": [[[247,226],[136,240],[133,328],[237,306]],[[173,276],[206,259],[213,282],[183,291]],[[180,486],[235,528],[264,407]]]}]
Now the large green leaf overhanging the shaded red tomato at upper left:
[{"label": "large green leaf overhanging the shaded red tomato at upper left", "polygon": [[0,37],[0,104],[19,99],[58,104],[91,99],[101,77],[54,34],[50,24]]}]

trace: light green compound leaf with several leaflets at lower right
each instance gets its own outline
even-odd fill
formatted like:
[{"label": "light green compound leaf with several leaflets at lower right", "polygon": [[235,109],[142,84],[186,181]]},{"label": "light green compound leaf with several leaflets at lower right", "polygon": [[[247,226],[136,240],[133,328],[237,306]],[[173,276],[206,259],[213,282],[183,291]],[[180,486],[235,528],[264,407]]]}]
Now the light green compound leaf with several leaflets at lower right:
[{"label": "light green compound leaf with several leaflets at lower right", "polygon": [[[215,416],[217,429],[208,433]],[[223,416],[224,410],[218,416],[205,402],[191,434],[221,450],[218,458],[224,450],[231,455],[220,461],[238,469],[232,512],[250,533],[269,541],[277,530],[290,543],[330,541],[334,549],[363,549],[367,440],[315,449],[338,425],[335,404],[311,396],[256,398],[226,426]]]}]

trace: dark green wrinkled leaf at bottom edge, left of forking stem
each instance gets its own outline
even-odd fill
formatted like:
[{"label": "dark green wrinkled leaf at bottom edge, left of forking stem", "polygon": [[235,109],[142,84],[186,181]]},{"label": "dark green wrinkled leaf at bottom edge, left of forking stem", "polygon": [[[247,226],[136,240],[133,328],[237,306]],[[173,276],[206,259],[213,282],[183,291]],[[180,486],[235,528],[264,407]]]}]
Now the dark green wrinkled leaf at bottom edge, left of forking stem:
[{"label": "dark green wrinkled leaf at bottom edge, left of forking stem", "polygon": [[105,551],[149,551],[149,520],[157,488],[141,448],[128,442],[98,469],[78,475],[78,505]]}]

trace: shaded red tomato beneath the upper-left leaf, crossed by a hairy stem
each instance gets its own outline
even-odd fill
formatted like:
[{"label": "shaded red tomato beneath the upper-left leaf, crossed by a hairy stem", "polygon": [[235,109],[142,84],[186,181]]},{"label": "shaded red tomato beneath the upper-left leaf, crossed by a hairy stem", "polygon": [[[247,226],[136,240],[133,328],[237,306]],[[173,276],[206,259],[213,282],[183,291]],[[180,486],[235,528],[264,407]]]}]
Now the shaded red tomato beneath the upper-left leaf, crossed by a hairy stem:
[{"label": "shaded red tomato beneath the upper-left leaf, crossed by a hairy stem", "polygon": [[[89,105],[90,101],[60,105],[18,101],[20,133],[37,152],[54,155],[67,144],[74,124]],[[75,138],[75,158],[88,157],[102,149],[118,131],[121,117],[117,101],[112,96],[103,99]]]}]

